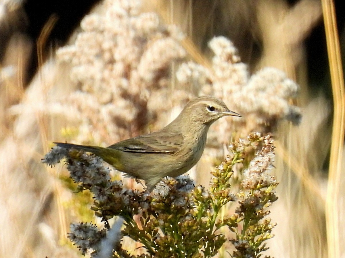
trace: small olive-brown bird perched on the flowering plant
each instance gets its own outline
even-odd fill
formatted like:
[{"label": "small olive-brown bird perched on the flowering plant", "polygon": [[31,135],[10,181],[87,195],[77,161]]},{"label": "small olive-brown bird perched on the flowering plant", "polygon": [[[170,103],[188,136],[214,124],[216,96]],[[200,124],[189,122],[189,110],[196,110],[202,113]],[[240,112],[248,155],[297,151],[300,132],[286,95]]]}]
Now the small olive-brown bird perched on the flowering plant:
[{"label": "small olive-brown bird perched on the flowering plant", "polygon": [[127,176],[142,179],[151,192],[164,177],[177,177],[194,167],[206,146],[209,127],[230,111],[213,96],[190,100],[175,120],[152,133],[119,141],[108,147],[55,142],[57,146],[91,152]]}]

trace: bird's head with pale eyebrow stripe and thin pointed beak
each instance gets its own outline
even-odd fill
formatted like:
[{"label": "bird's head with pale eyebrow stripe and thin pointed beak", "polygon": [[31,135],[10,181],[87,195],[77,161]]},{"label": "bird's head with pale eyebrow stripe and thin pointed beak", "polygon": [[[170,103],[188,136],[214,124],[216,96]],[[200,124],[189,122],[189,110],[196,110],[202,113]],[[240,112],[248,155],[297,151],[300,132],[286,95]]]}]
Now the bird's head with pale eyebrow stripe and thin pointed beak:
[{"label": "bird's head with pale eyebrow stripe and thin pointed beak", "polygon": [[223,101],[212,96],[200,96],[187,103],[180,114],[185,121],[211,125],[224,116],[240,115],[230,111]]}]

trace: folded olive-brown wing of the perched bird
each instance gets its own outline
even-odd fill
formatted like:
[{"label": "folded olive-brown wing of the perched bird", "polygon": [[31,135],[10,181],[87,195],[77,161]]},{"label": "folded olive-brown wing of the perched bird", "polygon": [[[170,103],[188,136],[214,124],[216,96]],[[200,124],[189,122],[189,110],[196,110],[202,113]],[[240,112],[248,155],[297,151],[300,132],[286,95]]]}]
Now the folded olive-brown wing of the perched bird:
[{"label": "folded olive-brown wing of the perched bird", "polygon": [[108,148],[126,152],[173,153],[183,144],[180,133],[153,132],[117,142]]}]

